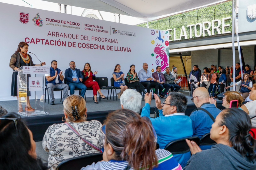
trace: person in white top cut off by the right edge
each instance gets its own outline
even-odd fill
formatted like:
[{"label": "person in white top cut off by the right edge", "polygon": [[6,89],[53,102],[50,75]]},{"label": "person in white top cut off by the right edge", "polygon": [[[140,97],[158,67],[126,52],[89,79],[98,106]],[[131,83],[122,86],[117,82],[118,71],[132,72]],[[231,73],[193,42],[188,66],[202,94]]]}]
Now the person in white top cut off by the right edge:
[{"label": "person in white top cut off by the right edge", "polygon": [[253,84],[252,90],[250,91],[249,98],[252,100],[251,102],[247,102],[241,109],[243,109],[247,114],[249,114],[252,122],[252,126],[256,128],[256,84]]}]

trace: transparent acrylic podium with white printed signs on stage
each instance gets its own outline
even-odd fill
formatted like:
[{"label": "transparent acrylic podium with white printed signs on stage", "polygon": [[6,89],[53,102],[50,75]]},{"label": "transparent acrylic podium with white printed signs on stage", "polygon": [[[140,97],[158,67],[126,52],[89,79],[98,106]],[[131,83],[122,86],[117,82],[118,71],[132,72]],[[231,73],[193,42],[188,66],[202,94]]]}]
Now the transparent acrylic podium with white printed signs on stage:
[{"label": "transparent acrylic podium with white printed signs on stage", "polygon": [[[33,66],[22,66],[14,71],[18,73],[18,114],[26,117],[49,114],[44,111],[44,74],[32,73],[34,77],[31,77],[32,74],[26,73],[30,72],[30,70],[27,70],[29,67]],[[23,69],[26,69],[25,73]],[[25,110],[28,103],[28,97],[31,107],[35,109],[34,111]],[[19,111],[19,105],[22,106],[22,111]]]}]

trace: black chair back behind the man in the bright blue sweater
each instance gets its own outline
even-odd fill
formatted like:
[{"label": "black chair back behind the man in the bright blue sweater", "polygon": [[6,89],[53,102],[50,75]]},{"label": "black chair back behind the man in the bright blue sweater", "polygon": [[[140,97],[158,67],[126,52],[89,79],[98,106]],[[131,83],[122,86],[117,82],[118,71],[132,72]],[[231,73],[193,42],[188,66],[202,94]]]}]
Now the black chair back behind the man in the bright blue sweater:
[{"label": "black chair back behind the man in the bright blue sweater", "polygon": [[186,138],[182,138],[182,139],[177,139],[177,140],[173,140],[171,142],[169,142],[166,146],[165,146],[165,150],[168,150],[170,152],[172,152],[172,154],[182,154],[182,153],[187,153],[190,151],[190,148],[186,142],[185,139],[188,140],[193,140],[194,142],[196,142],[197,144],[199,143],[200,138],[197,136],[194,137],[186,137]]}]

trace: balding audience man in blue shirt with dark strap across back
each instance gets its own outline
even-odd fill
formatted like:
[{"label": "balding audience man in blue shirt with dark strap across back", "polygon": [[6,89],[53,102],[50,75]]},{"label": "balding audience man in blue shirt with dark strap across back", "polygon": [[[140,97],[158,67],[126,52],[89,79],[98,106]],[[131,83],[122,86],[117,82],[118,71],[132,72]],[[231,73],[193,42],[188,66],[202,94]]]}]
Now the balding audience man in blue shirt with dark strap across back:
[{"label": "balding audience man in blue shirt with dark strap across back", "polygon": [[[197,108],[207,110],[215,119],[221,110],[214,104],[210,104],[209,99],[209,92],[204,87],[196,88],[193,98],[191,98]],[[210,132],[214,122],[206,112],[195,109],[189,117],[192,120],[193,136],[202,137],[205,133]]]}]

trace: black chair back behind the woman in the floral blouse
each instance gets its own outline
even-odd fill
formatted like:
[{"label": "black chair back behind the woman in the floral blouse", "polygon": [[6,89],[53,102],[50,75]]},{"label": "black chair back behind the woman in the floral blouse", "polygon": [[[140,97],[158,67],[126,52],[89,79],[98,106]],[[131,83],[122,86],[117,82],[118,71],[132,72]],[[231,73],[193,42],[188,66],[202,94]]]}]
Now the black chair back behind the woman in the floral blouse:
[{"label": "black chair back behind the woman in the floral blouse", "polygon": [[89,155],[74,157],[62,161],[56,170],[81,170],[82,167],[91,165],[93,162],[97,163],[102,160],[103,153],[93,153]]}]

